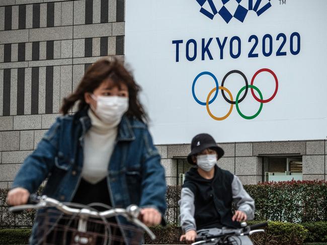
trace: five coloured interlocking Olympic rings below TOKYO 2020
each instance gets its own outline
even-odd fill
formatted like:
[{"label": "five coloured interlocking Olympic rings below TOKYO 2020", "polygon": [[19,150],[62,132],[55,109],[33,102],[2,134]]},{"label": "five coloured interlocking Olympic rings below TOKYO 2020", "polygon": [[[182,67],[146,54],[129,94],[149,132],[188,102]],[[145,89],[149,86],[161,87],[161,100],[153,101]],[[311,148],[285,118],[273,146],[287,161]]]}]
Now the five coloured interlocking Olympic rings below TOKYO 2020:
[{"label": "five coloured interlocking Olympic rings below TOKYO 2020", "polygon": [[[274,77],[274,79],[275,79],[275,83],[276,83],[275,91],[274,91],[273,95],[272,95],[270,98],[268,98],[268,99],[263,99],[262,93],[261,93],[261,91],[259,90],[259,88],[256,87],[255,85],[253,85],[253,83],[254,83],[256,77],[257,77],[258,74],[260,74],[261,72],[269,72],[269,73]],[[245,84],[246,84],[244,87],[242,87],[242,88],[238,91],[235,100],[233,100],[233,96],[232,96],[231,92],[230,92],[226,87],[224,87],[224,83],[225,83],[226,78],[227,78],[230,74],[233,74],[233,73],[237,73],[237,74],[241,75],[241,76],[243,77],[243,79],[244,79]],[[197,80],[198,80],[201,76],[203,76],[203,75],[209,75],[209,76],[211,76],[211,77],[213,78],[215,84],[216,84],[216,87],[214,87],[214,88],[209,92],[209,94],[208,94],[207,99],[206,99],[205,102],[200,101],[200,100],[196,97],[196,95],[195,95],[195,91],[194,91],[195,83],[196,83]],[[254,97],[258,102],[260,102],[260,108],[259,108],[259,110],[258,110],[255,114],[250,115],[250,116],[248,116],[248,115],[244,115],[244,114],[240,111],[240,109],[239,109],[239,105],[238,105],[238,104],[239,104],[240,102],[242,102],[243,99],[247,96],[249,88],[251,89],[252,96],[253,96],[253,97]],[[219,90],[219,89],[221,90],[221,94],[222,94],[223,98],[224,98],[224,99],[225,99],[225,100],[230,104],[230,107],[229,107],[229,110],[228,110],[227,114],[225,114],[224,116],[221,116],[221,117],[217,117],[217,116],[213,115],[213,114],[211,113],[210,109],[209,109],[209,104],[211,104],[211,103],[216,99],[216,97],[217,97],[217,95],[218,95],[218,90]],[[239,96],[240,96],[240,94],[241,94],[241,92],[242,92],[243,90],[245,90],[245,92],[244,92],[243,96],[242,96],[241,98],[239,98]],[[257,97],[257,95],[255,94],[254,90],[256,90],[256,91],[259,93],[260,98]],[[193,94],[193,98],[195,99],[195,101],[196,101],[197,103],[199,103],[200,105],[205,105],[206,108],[207,108],[208,114],[209,114],[213,119],[215,119],[215,120],[219,120],[219,121],[220,121],[220,120],[224,120],[224,119],[226,119],[226,118],[230,115],[230,113],[231,113],[231,111],[232,111],[232,109],[233,109],[233,105],[234,105],[234,104],[235,104],[235,106],[236,106],[236,110],[237,110],[238,114],[239,114],[241,117],[243,117],[244,119],[253,119],[253,118],[257,117],[257,116],[260,114],[261,110],[262,110],[263,104],[264,104],[264,103],[267,103],[267,102],[269,102],[269,101],[271,101],[271,100],[276,96],[277,91],[278,91],[278,78],[277,78],[276,74],[275,74],[272,70],[270,70],[270,69],[268,69],[268,68],[263,68],[263,69],[258,70],[258,71],[253,75],[253,77],[252,77],[252,79],[251,79],[251,84],[250,84],[250,85],[248,84],[248,79],[247,79],[247,77],[244,75],[243,72],[241,72],[241,71],[239,71],[239,70],[232,70],[232,71],[229,71],[229,72],[224,76],[224,78],[222,79],[221,86],[218,85],[218,80],[217,80],[217,78],[215,77],[215,75],[213,75],[213,74],[212,74],[211,72],[209,72],[209,71],[204,71],[204,72],[199,73],[199,74],[195,77],[195,79],[194,79],[194,81],[193,81],[193,84],[192,84],[192,94]],[[210,99],[210,96],[212,95],[213,92],[214,92],[214,96],[213,96],[212,99]],[[228,94],[229,99],[226,97],[225,92]],[[210,99],[210,100],[209,100],[209,99]]]}]

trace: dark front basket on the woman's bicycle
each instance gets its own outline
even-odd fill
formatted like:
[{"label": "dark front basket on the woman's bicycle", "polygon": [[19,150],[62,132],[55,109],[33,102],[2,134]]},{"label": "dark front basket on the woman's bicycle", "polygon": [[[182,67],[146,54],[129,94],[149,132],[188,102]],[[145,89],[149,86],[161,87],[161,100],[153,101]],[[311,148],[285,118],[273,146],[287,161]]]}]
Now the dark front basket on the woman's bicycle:
[{"label": "dark front basket on the woman's bicycle", "polygon": [[[134,225],[119,225],[114,218],[88,218],[87,231],[78,231],[80,216],[66,215],[58,210],[47,208],[36,218],[37,229],[33,237],[43,245],[116,245],[141,244],[143,230]],[[129,234],[131,239],[124,240],[121,231]],[[127,238],[126,238],[127,239]]]}]

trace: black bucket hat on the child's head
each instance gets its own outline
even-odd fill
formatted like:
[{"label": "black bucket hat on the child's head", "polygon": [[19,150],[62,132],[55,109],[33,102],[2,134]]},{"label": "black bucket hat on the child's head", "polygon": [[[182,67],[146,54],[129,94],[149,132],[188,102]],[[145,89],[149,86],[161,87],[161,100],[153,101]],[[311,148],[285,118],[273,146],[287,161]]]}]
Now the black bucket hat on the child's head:
[{"label": "black bucket hat on the child's head", "polygon": [[224,155],[224,150],[222,150],[222,148],[217,146],[217,143],[215,142],[215,140],[212,138],[211,135],[199,134],[194,136],[191,142],[191,153],[187,156],[187,161],[192,165],[196,165],[192,161],[192,156],[208,148],[211,148],[217,152],[218,159]]}]

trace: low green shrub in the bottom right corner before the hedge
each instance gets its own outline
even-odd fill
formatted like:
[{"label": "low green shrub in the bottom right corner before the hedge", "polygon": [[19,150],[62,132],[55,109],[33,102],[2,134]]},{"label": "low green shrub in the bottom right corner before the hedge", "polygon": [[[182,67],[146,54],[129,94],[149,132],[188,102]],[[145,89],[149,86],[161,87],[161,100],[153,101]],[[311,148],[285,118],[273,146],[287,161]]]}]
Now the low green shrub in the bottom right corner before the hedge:
[{"label": "low green shrub in the bottom right corner before the hedge", "polygon": [[327,241],[327,221],[305,222],[302,225],[309,231],[305,241]]}]

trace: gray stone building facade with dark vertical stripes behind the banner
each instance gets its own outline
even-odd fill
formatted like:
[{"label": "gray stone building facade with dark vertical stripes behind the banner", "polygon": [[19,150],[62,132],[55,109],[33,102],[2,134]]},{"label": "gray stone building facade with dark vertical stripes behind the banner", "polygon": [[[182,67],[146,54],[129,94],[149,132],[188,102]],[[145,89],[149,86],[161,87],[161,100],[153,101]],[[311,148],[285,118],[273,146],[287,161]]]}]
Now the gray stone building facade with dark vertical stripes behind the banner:
[{"label": "gray stone building facade with dark vertical stripes behind the banner", "polygon": [[[11,186],[88,66],[124,59],[124,12],[123,0],[0,1],[0,188]],[[189,144],[157,146],[169,185],[183,182]],[[243,184],[326,180],[326,140],[218,144],[218,165]]]}]

